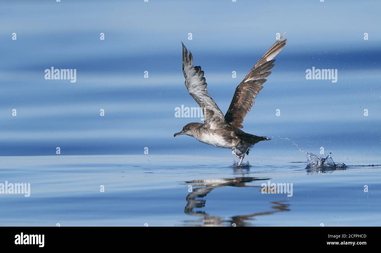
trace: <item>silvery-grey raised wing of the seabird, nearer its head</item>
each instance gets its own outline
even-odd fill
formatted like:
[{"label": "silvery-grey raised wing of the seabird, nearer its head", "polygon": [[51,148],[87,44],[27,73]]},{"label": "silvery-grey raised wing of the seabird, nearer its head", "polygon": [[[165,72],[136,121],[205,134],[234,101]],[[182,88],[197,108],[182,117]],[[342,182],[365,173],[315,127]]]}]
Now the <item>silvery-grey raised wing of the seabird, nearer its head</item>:
[{"label": "silvery-grey raised wing of the seabird, nearer its head", "polygon": [[188,54],[184,44],[182,44],[182,72],[184,72],[185,86],[189,94],[196,100],[203,111],[204,123],[211,129],[226,127],[227,124],[223,113],[208,94],[204,72],[200,66],[193,67],[192,53]]}]

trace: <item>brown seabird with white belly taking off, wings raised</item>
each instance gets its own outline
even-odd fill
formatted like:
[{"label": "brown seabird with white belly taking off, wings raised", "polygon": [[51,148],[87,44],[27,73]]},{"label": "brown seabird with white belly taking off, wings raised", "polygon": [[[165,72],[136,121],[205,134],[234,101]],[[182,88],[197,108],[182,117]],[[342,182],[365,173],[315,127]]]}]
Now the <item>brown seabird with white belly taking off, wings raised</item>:
[{"label": "brown seabird with white belly taking off, wings raised", "polygon": [[230,148],[232,153],[240,159],[238,166],[241,165],[245,153],[249,154],[249,149],[253,145],[263,140],[271,140],[266,136],[247,134],[241,128],[243,128],[243,119],[245,119],[246,114],[254,104],[254,99],[263,88],[263,83],[267,81],[265,78],[271,74],[269,70],[274,67],[275,60],[273,58],[286,45],[287,39],[282,39],[283,35],[275,41],[264,56],[251,68],[245,79],[237,86],[225,116],[208,94],[207,83],[201,67],[193,66],[192,53],[189,52],[188,54],[188,50],[181,43],[182,72],[185,77],[185,86],[189,94],[200,105],[204,113],[204,124],[186,124],[180,132],[173,136],[186,134],[209,145]]}]

